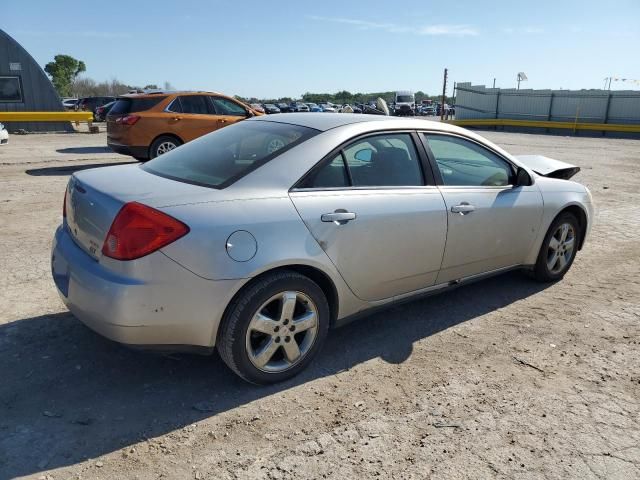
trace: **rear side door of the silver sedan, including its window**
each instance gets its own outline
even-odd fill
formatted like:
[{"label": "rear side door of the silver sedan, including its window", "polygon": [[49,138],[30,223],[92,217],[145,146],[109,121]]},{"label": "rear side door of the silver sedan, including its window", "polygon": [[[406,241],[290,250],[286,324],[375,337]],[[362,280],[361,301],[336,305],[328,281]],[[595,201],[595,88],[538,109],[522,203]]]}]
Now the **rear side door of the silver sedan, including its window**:
[{"label": "rear side door of the silver sedan, including its window", "polygon": [[446,209],[417,140],[407,132],[355,139],[290,192],[313,237],[363,300],[435,283]]}]

